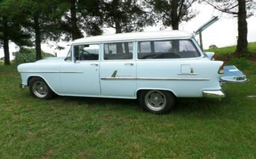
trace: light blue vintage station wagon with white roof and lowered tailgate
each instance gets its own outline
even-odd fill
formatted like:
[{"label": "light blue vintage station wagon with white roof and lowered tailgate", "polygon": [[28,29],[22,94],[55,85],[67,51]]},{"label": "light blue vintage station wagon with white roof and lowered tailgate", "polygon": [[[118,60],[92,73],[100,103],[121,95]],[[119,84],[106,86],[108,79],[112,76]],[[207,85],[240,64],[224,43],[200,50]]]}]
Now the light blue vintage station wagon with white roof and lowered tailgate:
[{"label": "light blue vintage station wagon with white roof and lowered tailgate", "polygon": [[77,39],[66,57],[20,64],[18,71],[21,86],[37,98],[138,98],[145,110],[167,113],[176,97],[221,98],[220,82],[246,82],[213,55],[184,31],[122,33]]}]

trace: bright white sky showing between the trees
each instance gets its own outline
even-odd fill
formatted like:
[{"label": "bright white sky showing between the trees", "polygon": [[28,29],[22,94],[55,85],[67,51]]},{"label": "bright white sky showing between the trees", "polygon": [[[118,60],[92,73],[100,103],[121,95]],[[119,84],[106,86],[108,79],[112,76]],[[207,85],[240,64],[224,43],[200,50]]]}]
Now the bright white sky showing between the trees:
[{"label": "bright white sky showing between the trees", "polygon": [[[214,44],[217,47],[232,46],[237,43],[237,18],[232,17],[218,10],[214,10],[212,6],[207,4],[194,4],[193,10],[196,10],[198,15],[194,19],[188,22],[182,22],[179,26],[179,30],[185,30],[188,32],[194,32],[201,25],[209,21],[212,16],[218,16],[219,21],[215,22],[202,32],[203,37],[203,48],[208,48]],[[247,19],[248,23],[248,42],[256,41],[256,15]],[[161,25],[150,26],[144,28],[144,31],[158,31],[163,28]],[[172,30],[171,28],[164,28],[164,30]],[[104,34],[114,34],[113,28],[104,28]],[[199,36],[196,36],[196,40],[199,41]],[[58,57],[65,57],[68,53],[69,46],[68,42],[59,42],[58,45],[64,46],[64,50],[55,50],[56,43],[54,41],[48,41],[48,44],[42,44],[42,50],[46,53],[57,53]],[[15,44],[10,42],[10,59],[13,59],[12,52],[19,50]],[[0,57],[3,57],[3,48],[0,48]]]}]

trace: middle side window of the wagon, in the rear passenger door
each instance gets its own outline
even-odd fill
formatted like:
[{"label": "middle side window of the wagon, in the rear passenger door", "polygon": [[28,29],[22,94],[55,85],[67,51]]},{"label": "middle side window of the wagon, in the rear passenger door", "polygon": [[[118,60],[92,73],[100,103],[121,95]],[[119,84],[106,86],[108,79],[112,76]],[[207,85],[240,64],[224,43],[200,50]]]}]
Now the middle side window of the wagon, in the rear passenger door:
[{"label": "middle side window of the wagon, in the rear passenger door", "polygon": [[104,59],[132,59],[133,43],[110,43],[104,44]]}]

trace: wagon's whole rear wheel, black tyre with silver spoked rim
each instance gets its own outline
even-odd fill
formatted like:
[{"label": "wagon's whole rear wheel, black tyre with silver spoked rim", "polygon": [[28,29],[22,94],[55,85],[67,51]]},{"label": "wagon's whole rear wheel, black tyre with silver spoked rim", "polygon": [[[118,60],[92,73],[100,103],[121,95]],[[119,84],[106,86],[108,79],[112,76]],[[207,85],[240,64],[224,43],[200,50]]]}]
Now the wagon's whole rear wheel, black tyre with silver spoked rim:
[{"label": "wagon's whole rear wheel, black tyre with silver spoked rim", "polygon": [[169,91],[142,91],[138,100],[145,111],[156,114],[169,113],[174,107],[174,95]]}]

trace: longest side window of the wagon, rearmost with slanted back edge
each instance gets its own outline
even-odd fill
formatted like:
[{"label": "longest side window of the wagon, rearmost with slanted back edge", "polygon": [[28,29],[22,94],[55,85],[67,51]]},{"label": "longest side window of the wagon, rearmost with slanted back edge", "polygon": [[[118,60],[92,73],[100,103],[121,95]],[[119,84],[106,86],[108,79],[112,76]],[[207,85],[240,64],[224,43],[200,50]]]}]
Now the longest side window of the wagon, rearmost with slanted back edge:
[{"label": "longest side window of the wagon, rearmost with slanted back edge", "polygon": [[138,42],[138,59],[179,59],[200,57],[189,39]]}]

